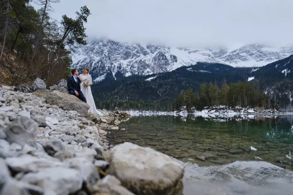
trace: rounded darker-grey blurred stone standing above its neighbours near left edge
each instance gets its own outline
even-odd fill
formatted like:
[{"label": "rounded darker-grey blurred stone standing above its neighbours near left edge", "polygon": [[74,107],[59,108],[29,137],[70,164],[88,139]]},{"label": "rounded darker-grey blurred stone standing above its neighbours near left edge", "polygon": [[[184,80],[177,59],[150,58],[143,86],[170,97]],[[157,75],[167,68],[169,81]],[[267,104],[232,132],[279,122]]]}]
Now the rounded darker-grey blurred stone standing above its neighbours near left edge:
[{"label": "rounded darker-grey blurred stone standing above its neighbours near left edge", "polygon": [[18,116],[6,128],[7,141],[33,146],[36,143],[38,130],[39,124],[34,120],[24,116]]}]

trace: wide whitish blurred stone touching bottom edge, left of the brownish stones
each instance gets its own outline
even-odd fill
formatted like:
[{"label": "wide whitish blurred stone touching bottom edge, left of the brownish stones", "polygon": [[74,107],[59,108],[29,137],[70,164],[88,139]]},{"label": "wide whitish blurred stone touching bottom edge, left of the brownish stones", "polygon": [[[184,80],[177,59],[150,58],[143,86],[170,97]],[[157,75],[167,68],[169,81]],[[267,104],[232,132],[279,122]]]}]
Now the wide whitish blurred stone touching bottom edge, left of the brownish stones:
[{"label": "wide whitish blurred stone touching bottom edge, left of the brownish stones", "polygon": [[54,167],[26,174],[22,181],[52,191],[56,195],[71,194],[81,189],[83,176],[79,170]]}]

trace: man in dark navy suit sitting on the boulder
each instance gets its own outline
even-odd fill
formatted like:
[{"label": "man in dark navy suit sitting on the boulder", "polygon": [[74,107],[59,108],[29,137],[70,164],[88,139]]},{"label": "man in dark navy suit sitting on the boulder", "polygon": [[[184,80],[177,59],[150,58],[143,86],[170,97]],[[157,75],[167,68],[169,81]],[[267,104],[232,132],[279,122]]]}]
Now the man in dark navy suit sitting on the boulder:
[{"label": "man in dark navy suit sitting on the boulder", "polygon": [[74,95],[78,97],[81,101],[86,103],[86,98],[84,97],[84,94],[80,91],[80,80],[77,77],[78,71],[76,68],[71,70],[72,76],[68,78],[67,80],[67,88],[70,95]]}]

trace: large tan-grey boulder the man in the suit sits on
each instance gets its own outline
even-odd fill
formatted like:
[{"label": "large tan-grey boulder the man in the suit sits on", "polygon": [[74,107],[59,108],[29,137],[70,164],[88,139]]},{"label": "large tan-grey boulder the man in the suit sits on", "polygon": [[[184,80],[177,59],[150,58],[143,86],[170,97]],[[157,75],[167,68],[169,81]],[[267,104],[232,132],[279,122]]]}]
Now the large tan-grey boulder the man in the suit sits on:
[{"label": "large tan-grey boulder the man in the suit sits on", "polygon": [[88,113],[90,106],[78,99],[76,96],[65,94],[59,91],[52,91],[45,95],[43,98],[47,100],[48,103],[59,106],[67,111],[76,111],[82,117],[85,117]]}]

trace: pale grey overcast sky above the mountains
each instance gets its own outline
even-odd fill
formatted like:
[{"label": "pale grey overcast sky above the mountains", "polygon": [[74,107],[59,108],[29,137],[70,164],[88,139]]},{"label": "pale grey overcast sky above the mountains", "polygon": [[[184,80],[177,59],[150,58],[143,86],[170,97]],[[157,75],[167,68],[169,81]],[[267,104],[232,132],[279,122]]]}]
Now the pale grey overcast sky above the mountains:
[{"label": "pale grey overcast sky above the mountains", "polygon": [[89,38],[169,46],[293,44],[293,0],[61,0],[51,17],[86,5]]}]

